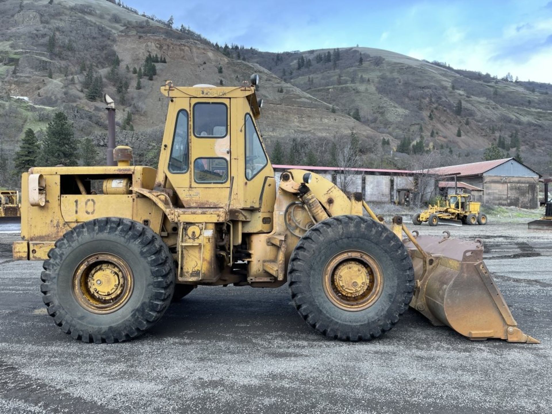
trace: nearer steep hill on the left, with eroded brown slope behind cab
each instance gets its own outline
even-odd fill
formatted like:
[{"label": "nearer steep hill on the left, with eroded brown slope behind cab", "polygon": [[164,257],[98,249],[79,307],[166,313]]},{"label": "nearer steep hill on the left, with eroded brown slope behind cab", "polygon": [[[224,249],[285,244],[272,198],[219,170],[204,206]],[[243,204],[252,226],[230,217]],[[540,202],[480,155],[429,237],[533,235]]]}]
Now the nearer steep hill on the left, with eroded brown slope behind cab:
[{"label": "nearer steep hill on the left, with eroded brown slope behind cab", "polygon": [[[259,94],[266,103],[259,124],[269,150],[276,140],[287,148],[293,138],[302,148],[311,148],[317,161],[324,163],[326,143],[349,137],[353,131],[363,148],[378,146],[382,137],[390,138],[346,114],[332,113],[331,105],[266,68],[231,59],[200,35],[169,29],[162,23],[106,0],[0,3],[0,122],[9,124],[2,139],[8,165],[24,129],[44,129],[55,109],[63,110],[73,121],[77,137],[92,136],[104,157],[104,104],[99,98],[87,99],[85,83],[91,67],[94,77],[102,76],[102,92],[116,101],[118,125],[123,126],[128,112],[132,115],[134,131],[128,131],[129,126],[126,131],[119,130],[118,143],[132,145],[137,162],[156,164],[167,108],[159,92],[164,79],[182,86],[231,85],[258,72]],[[132,69],[140,68],[148,54],[163,56],[166,63],[156,63],[157,75],[152,81],[142,77],[141,89],[136,89],[137,75]],[[121,82],[128,85],[124,98],[118,91]],[[28,97],[30,103],[10,96]],[[38,135],[40,138],[42,132]],[[0,176],[2,179],[14,184],[9,174]]]}]

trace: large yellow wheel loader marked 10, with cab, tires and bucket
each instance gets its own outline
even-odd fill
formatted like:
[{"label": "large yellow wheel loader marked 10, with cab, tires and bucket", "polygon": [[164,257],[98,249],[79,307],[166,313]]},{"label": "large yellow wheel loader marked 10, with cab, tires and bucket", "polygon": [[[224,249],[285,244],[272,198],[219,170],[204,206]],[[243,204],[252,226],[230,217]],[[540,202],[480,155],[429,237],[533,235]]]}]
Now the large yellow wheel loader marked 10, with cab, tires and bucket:
[{"label": "large yellow wheel loader marked 10, with cab, tires and bucket", "polygon": [[517,327],[480,240],[412,234],[327,179],[279,177],[256,120],[258,76],[237,87],[167,82],[157,169],[34,167],[23,174],[19,260],[44,260],[41,291],[84,342],[135,338],[194,286],[289,285],[301,317],[330,338],[389,331],[408,305],[470,339],[536,343]]}]

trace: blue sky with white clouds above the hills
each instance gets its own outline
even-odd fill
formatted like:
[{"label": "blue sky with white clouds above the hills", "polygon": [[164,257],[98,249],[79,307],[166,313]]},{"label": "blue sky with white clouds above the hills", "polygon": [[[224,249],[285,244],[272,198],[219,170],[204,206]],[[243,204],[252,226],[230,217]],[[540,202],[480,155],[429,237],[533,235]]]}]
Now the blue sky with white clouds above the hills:
[{"label": "blue sky with white clouds above the hills", "polygon": [[265,51],[365,46],[552,82],[552,0],[128,0],[219,44]]}]

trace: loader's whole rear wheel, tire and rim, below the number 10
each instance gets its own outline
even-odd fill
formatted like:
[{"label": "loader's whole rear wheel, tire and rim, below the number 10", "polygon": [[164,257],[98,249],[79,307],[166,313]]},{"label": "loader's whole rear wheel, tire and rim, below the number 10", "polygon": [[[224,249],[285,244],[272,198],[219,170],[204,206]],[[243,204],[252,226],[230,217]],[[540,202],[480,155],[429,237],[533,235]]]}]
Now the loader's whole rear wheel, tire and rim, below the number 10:
[{"label": "loader's whole rear wheel, tire and rim, below the number 10", "polygon": [[77,225],[48,253],[40,289],[48,314],[83,342],[140,336],[167,310],[172,254],[139,222],[109,217]]}]

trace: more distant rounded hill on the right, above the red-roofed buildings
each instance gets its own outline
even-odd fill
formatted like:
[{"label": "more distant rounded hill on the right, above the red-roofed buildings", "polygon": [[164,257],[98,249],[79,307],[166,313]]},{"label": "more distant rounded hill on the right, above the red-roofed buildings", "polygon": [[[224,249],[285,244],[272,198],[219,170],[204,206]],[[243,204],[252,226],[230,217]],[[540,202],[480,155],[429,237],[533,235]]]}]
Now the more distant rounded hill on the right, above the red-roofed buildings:
[{"label": "more distant rounded hill on the right, above the red-roofed buildings", "polygon": [[[550,173],[551,84],[508,82],[367,47],[341,49],[338,60],[336,52],[246,49],[241,57],[335,105],[338,112],[358,110],[360,121],[376,131],[413,142],[423,136],[426,147],[451,147],[463,162],[480,161],[484,148],[499,136],[509,142],[516,135],[524,160]],[[327,55],[330,59],[324,59]],[[462,109],[456,112],[459,101]]]}]

